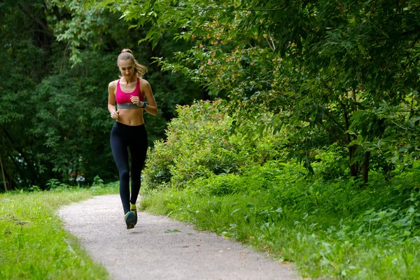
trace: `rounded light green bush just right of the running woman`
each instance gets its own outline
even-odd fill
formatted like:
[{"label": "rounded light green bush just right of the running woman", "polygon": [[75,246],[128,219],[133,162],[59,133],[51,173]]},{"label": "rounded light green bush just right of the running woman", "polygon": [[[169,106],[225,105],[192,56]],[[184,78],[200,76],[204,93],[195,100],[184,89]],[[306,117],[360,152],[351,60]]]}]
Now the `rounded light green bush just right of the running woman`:
[{"label": "rounded light green bush just right of the running woman", "polygon": [[[191,179],[211,174],[238,173],[242,168],[282,155],[279,133],[265,137],[232,134],[232,118],[226,102],[195,102],[179,106],[178,118],[167,128],[167,139],[149,151],[144,170],[146,186],[183,186]],[[248,123],[243,130],[252,130]]]}]

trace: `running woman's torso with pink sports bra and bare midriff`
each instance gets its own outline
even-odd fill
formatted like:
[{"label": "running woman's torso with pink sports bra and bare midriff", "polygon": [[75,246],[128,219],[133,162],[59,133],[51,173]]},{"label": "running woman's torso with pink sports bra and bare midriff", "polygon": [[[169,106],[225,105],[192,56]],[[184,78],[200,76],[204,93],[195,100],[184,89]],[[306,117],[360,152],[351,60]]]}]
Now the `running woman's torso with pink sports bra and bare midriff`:
[{"label": "running woman's torso with pink sports bra and bare midriff", "polygon": [[[144,100],[144,97],[141,93],[140,88],[140,78],[136,79],[136,83],[122,83],[122,80],[116,80],[116,90],[114,94],[116,94],[116,101],[117,101],[117,110],[119,112],[119,116],[117,119],[118,123],[123,123],[124,125],[143,125],[143,109],[140,107],[138,109],[120,109],[118,108],[119,103],[131,103],[130,102],[130,95],[139,96],[140,99]],[[119,88],[118,88],[119,87]],[[137,90],[139,87],[139,90]],[[118,91],[118,96],[117,96]]]}]

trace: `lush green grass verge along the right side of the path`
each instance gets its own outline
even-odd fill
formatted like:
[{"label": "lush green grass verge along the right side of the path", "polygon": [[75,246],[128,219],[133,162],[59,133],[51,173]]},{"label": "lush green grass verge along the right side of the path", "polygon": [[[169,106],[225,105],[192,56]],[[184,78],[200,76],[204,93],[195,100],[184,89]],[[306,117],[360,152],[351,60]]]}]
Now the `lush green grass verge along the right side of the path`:
[{"label": "lush green grass verge along the right side of the path", "polygon": [[274,163],[148,190],[141,207],[293,261],[304,277],[419,279],[419,177],[358,188]]}]

